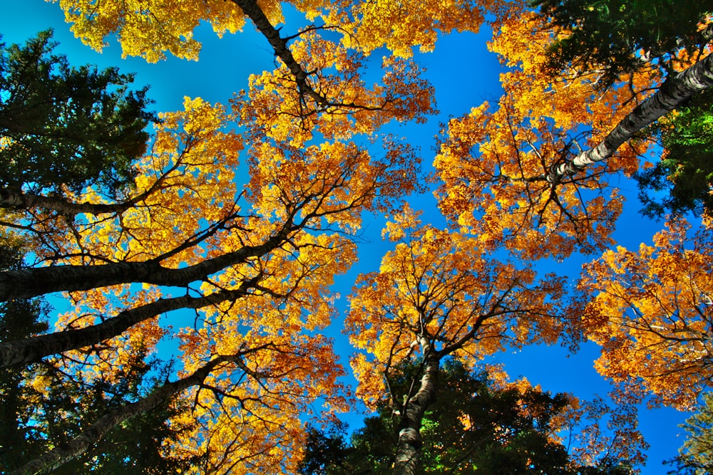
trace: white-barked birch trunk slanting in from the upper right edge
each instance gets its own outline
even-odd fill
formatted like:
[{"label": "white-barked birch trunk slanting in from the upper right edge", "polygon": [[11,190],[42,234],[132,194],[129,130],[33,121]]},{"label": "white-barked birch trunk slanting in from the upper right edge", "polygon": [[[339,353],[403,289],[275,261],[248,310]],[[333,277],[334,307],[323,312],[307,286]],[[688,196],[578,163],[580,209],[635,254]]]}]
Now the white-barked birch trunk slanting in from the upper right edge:
[{"label": "white-barked birch trunk slanting in from the upper right edge", "polygon": [[685,71],[668,78],[661,88],[642,102],[593,149],[580,153],[570,162],[559,163],[550,168],[547,180],[553,186],[564,177],[611,157],[617,148],[630,140],[636,132],[685,103],[694,94],[713,85],[713,55],[690,66]]}]

